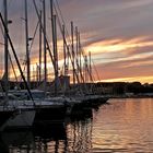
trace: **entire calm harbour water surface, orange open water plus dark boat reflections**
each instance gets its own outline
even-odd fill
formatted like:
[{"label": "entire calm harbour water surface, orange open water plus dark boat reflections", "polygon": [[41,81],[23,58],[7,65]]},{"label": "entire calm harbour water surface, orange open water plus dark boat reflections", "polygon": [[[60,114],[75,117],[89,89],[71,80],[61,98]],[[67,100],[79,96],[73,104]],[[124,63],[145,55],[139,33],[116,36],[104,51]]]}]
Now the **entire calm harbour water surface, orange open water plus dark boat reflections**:
[{"label": "entire calm harbour water surface, orange open water plus dark boat reflections", "polygon": [[153,153],[153,99],[109,103],[48,127],[3,132],[0,153]]}]

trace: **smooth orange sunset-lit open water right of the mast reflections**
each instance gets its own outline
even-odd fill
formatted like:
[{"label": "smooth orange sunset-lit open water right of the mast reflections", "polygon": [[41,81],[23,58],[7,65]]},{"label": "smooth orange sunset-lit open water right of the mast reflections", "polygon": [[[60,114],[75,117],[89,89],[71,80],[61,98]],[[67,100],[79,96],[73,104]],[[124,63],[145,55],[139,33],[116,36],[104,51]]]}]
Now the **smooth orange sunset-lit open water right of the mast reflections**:
[{"label": "smooth orange sunset-lit open water right of the mast reflections", "polygon": [[92,152],[153,152],[153,99],[111,99],[93,117]]}]

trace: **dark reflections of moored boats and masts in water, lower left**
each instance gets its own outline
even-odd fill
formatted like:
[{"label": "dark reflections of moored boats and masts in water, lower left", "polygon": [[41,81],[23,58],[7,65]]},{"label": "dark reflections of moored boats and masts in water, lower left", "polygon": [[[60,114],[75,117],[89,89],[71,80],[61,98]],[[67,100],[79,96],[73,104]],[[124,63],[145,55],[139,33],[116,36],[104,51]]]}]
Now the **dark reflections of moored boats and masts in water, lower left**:
[{"label": "dark reflections of moored boats and masts in water, lower left", "polygon": [[5,131],[0,136],[2,153],[84,153],[91,148],[92,109],[74,113],[64,121],[35,125],[31,131]]}]

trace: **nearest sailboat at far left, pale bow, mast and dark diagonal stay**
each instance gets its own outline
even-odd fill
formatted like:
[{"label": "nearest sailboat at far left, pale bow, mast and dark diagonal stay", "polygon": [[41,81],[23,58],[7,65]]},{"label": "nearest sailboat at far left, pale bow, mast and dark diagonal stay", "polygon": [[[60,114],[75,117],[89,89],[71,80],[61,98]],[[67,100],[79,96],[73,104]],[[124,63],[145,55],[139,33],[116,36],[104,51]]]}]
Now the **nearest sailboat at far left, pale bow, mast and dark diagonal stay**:
[{"label": "nearest sailboat at far left, pale bow, mast and dark diagonal stay", "polygon": [[[23,101],[19,101],[17,98],[16,99],[9,99],[9,96],[8,96],[9,95],[9,87],[8,87],[8,83],[9,83],[9,81],[8,81],[8,55],[9,55],[9,49],[8,49],[8,45],[10,44],[11,49],[12,49],[13,55],[14,55],[14,58],[16,60],[20,73],[21,73],[21,75],[24,80],[25,86],[26,86],[26,89],[28,91],[28,94],[32,98],[32,101],[30,101],[30,105],[32,105],[32,102],[33,102],[31,91],[30,91],[28,85],[25,81],[25,78],[24,78],[24,74],[22,72],[17,56],[15,54],[14,46],[12,44],[11,37],[9,35],[9,32],[8,32],[7,0],[3,0],[3,5],[4,5],[4,20],[2,17],[1,13],[0,13],[0,20],[1,20],[1,23],[2,23],[2,26],[3,26],[3,31],[4,31],[4,59],[5,59],[4,60],[4,68],[5,68],[4,90],[5,90],[5,95],[4,95],[4,105],[0,106],[0,107],[3,107],[3,108],[0,109],[0,111],[1,111],[2,115],[4,114],[3,119],[4,118],[7,118],[7,119],[4,121],[3,120],[1,121],[1,125],[0,125],[1,130],[3,130],[4,128],[31,127],[33,125],[34,117],[35,117],[35,109],[34,109],[33,106],[27,107],[25,105],[21,105],[21,104],[23,104]],[[34,105],[34,103],[33,103],[33,105]],[[9,117],[7,117],[7,116],[9,116]],[[1,118],[0,118],[0,120],[1,120]]]}]

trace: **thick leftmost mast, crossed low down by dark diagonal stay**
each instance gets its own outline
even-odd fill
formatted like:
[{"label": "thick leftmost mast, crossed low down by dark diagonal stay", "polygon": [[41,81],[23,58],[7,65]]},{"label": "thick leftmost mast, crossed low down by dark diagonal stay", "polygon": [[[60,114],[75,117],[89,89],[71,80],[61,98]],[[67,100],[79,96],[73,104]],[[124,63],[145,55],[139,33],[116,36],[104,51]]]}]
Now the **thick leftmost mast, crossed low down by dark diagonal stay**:
[{"label": "thick leftmost mast, crossed low down by dark diagonal stay", "polygon": [[8,3],[7,0],[3,0],[3,7],[4,7],[4,24],[5,24],[5,30],[4,31],[4,90],[5,90],[5,101],[8,102],[8,91],[9,91],[9,63],[8,63]]}]

